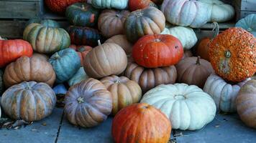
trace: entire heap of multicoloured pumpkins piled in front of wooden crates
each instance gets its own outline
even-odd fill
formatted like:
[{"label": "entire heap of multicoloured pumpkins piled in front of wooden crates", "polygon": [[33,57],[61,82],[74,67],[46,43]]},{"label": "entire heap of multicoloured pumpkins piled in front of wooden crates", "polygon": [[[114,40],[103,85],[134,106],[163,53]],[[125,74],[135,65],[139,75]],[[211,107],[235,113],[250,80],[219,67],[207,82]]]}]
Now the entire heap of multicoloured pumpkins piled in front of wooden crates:
[{"label": "entire heap of multicoloured pumpkins piled in front of wooden crates", "polygon": [[[219,34],[217,22],[234,17],[219,0],[45,4],[72,26],[31,19],[23,40],[0,40],[1,108],[12,119],[47,117],[63,92],[72,124],[114,116],[115,142],[168,142],[171,129],[201,129],[216,111],[238,112],[256,127],[255,15]],[[198,42],[192,28],[207,22],[216,35]]]}]

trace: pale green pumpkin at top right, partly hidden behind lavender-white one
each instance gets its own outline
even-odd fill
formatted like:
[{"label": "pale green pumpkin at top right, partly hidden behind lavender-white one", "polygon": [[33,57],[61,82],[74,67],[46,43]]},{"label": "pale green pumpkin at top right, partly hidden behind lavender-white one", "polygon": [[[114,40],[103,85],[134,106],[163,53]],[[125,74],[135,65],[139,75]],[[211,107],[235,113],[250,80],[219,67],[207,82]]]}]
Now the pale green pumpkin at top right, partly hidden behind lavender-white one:
[{"label": "pale green pumpkin at top right, partly hidden behind lavender-white one", "polygon": [[208,4],[209,21],[224,22],[234,18],[234,8],[229,4],[225,4],[220,0],[198,0],[202,3]]}]

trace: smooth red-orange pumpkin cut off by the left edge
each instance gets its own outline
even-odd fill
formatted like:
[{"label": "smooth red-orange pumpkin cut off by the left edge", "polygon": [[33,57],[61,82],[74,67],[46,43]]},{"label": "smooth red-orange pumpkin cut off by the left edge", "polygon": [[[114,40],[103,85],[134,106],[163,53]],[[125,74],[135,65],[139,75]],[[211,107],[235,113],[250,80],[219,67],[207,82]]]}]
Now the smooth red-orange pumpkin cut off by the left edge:
[{"label": "smooth red-orange pumpkin cut off by the left edge", "polygon": [[21,56],[32,56],[32,46],[24,40],[4,40],[0,37],[0,68],[19,59]]}]

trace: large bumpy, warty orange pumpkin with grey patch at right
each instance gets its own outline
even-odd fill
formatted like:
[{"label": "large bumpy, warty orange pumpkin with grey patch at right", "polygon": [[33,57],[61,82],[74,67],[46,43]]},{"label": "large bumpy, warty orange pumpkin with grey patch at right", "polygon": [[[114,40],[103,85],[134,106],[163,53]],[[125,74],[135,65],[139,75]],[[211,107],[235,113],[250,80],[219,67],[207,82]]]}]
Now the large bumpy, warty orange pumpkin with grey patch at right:
[{"label": "large bumpy, warty orange pumpkin with grey patch at right", "polygon": [[216,74],[230,82],[241,82],[256,71],[256,40],[241,28],[230,28],[210,43],[209,55]]}]

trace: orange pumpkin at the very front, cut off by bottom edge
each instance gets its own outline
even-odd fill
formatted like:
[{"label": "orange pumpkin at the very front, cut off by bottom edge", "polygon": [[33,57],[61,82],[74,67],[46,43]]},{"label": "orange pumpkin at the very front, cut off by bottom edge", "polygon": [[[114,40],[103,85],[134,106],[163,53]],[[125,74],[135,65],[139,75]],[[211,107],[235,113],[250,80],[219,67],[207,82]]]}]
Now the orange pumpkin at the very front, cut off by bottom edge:
[{"label": "orange pumpkin at the very front, cut off by bottom edge", "polygon": [[114,142],[166,143],[170,139],[168,118],[149,104],[133,104],[122,109],[113,119]]}]

